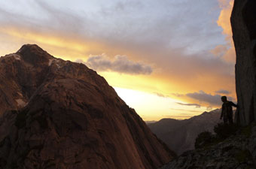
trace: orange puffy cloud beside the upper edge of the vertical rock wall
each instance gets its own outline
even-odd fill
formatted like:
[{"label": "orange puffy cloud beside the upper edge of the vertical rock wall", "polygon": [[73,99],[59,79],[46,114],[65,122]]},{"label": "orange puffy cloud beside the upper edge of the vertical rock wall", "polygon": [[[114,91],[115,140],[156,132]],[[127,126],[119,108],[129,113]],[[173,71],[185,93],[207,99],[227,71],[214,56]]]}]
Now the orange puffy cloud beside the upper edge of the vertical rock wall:
[{"label": "orange puffy cloud beside the upper edge of the vertical rock wall", "polygon": [[221,13],[218,17],[217,24],[223,29],[222,34],[226,36],[226,44],[218,45],[211,52],[215,56],[221,56],[227,62],[235,62],[236,53],[232,39],[232,29],[230,24],[230,16],[233,8],[234,0],[218,0]]}]

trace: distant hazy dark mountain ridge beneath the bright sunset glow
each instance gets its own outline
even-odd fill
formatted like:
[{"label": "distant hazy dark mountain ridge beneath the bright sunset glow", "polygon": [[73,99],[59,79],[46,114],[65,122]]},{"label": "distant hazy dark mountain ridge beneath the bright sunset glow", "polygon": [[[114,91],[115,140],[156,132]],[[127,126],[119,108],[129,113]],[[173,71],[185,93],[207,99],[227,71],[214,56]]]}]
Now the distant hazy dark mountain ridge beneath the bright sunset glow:
[{"label": "distant hazy dark mountain ridge beneath the bright sunset glow", "polygon": [[213,131],[214,126],[221,122],[221,109],[204,112],[190,119],[161,119],[148,124],[154,134],[163,140],[178,155],[194,149],[197,135],[203,131]]}]

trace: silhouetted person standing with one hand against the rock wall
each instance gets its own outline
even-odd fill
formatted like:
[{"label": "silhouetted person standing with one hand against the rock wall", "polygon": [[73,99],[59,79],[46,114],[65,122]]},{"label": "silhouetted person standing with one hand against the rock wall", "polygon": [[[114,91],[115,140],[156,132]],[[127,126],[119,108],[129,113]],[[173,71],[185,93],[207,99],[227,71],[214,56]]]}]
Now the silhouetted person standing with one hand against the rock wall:
[{"label": "silhouetted person standing with one hand against the rock wall", "polygon": [[225,124],[227,124],[227,121],[230,124],[233,124],[233,107],[237,107],[236,104],[234,104],[232,101],[227,101],[226,96],[221,97],[221,101],[223,102],[221,107],[221,119],[223,117],[223,121]]}]

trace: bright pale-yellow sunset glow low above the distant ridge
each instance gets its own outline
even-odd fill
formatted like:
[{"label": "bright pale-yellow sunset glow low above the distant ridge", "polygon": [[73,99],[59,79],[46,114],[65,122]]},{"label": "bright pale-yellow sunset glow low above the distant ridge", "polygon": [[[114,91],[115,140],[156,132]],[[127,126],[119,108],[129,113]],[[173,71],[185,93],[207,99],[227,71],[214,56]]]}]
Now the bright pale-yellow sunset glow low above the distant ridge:
[{"label": "bright pale-yellow sunset glow low above the distant ridge", "polygon": [[[181,101],[169,97],[161,97],[133,89],[114,87],[117,94],[130,107],[134,108],[145,121],[163,118],[187,119],[206,110],[206,107],[182,106]],[[186,104],[185,102],[181,102]]]}]

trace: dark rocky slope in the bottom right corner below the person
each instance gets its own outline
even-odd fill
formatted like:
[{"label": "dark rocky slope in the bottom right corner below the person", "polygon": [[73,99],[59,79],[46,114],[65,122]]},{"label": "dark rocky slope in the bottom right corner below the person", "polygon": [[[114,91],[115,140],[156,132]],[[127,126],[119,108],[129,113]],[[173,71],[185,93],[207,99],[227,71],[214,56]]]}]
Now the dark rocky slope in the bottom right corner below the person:
[{"label": "dark rocky slope in the bottom right corner below the person", "polygon": [[214,146],[184,152],[160,169],[254,169],[256,127],[251,134],[238,134]]}]

